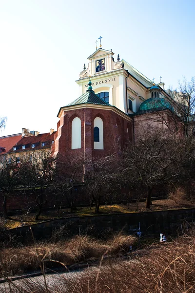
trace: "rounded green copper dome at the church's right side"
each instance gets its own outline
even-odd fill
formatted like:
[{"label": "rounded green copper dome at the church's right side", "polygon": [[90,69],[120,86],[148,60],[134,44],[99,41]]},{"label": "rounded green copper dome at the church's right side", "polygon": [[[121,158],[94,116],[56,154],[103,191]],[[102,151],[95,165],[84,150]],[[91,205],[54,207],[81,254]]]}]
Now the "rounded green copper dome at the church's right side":
[{"label": "rounded green copper dome at the church's right side", "polygon": [[138,112],[141,114],[147,111],[173,110],[171,104],[165,98],[150,98],[144,101]]}]

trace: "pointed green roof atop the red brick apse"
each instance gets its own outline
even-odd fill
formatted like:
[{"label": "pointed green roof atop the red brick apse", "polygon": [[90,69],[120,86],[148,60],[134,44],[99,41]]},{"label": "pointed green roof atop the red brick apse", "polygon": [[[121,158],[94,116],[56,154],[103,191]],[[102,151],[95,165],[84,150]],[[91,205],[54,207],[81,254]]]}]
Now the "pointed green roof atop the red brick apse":
[{"label": "pointed green roof atop the red brick apse", "polygon": [[95,104],[95,105],[106,105],[111,106],[109,103],[105,102],[99,98],[92,89],[88,89],[86,93],[80,96],[78,99],[68,104],[68,106],[80,105],[80,104]]}]

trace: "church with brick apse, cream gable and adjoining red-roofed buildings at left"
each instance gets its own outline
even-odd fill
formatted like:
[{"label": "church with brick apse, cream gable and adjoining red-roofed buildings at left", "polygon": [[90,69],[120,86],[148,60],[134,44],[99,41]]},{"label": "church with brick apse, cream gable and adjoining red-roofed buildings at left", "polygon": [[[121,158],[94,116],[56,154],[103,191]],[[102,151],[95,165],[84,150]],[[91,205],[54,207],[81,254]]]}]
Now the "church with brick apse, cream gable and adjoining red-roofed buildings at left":
[{"label": "church with brick apse, cream gable and adjoining red-roofed buildings at left", "polygon": [[[114,60],[114,52],[100,47],[88,57],[76,81],[80,97],[59,109],[57,131],[0,137],[0,155],[52,148],[55,156],[102,156],[136,141],[140,125],[161,111],[168,118],[171,106],[164,83],[154,84],[132,65]],[[159,123],[158,123],[159,124]],[[162,123],[163,126],[163,123]]]}]

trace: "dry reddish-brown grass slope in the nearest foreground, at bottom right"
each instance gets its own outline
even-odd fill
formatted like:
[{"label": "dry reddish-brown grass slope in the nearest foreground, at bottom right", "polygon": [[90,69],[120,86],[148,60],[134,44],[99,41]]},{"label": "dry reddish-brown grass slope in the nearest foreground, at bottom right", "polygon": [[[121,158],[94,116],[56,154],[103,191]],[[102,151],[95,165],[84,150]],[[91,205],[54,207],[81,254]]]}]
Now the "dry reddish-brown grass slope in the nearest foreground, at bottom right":
[{"label": "dry reddish-brown grass slope in the nearest foreground, at bottom right", "polygon": [[[122,238],[120,238],[122,239]],[[117,238],[116,238],[117,241]],[[122,242],[121,242],[122,244]],[[121,247],[121,246],[120,246]],[[22,280],[1,293],[193,293],[195,292],[195,231],[172,243],[145,248],[129,261],[100,262],[83,272],[52,279]],[[16,284],[16,283],[15,283]],[[45,287],[46,284],[46,287]],[[11,289],[13,288],[13,291]]]}]

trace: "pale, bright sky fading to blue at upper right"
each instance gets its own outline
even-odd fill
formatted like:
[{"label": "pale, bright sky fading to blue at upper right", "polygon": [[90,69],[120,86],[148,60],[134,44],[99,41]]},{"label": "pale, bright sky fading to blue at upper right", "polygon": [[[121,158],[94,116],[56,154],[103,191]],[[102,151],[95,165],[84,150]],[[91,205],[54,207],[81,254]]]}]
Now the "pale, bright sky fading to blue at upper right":
[{"label": "pale, bright sky fading to blue at upper right", "polygon": [[[195,76],[195,0],[0,0],[0,135],[57,129],[96,50],[112,49],[165,88]],[[116,58],[116,55],[114,56]]]}]

